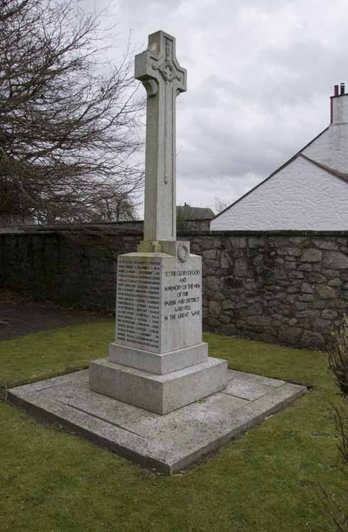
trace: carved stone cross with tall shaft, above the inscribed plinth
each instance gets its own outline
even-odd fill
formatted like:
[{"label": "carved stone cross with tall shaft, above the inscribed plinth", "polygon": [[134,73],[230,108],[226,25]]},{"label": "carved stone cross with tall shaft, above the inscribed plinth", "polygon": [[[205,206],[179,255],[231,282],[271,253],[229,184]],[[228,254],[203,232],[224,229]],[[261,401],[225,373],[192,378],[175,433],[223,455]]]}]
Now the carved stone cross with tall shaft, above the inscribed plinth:
[{"label": "carved stone cross with tall shaft, above the inscribed plinth", "polygon": [[164,31],[149,35],[147,50],[136,55],[135,77],[147,92],[144,235],[138,251],[170,253],[176,240],[175,99],[186,91],[175,38]]}]

